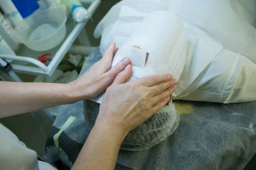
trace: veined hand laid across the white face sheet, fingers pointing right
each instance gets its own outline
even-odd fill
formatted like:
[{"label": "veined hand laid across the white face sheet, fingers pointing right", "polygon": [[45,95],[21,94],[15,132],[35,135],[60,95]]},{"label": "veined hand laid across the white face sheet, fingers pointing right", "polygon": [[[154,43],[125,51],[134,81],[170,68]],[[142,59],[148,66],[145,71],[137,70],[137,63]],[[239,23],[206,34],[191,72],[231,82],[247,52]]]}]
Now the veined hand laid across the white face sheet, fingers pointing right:
[{"label": "veined hand laid across the white face sheet, fingers pointing right", "polygon": [[105,128],[111,126],[112,130],[114,128],[118,131],[116,133],[125,136],[165,106],[177,84],[170,74],[152,75],[126,82],[130,74],[131,65],[128,65],[126,70],[116,76],[105,92],[96,120],[97,125]]}]

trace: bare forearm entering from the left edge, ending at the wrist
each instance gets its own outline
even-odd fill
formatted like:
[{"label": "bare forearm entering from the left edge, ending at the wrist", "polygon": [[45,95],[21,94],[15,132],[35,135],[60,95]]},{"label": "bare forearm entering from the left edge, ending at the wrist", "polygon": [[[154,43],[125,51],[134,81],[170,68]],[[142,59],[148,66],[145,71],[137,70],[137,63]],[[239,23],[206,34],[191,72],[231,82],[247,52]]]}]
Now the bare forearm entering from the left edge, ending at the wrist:
[{"label": "bare forearm entering from the left edge, ending at the wrist", "polygon": [[1,82],[0,118],[76,102],[68,84]]}]

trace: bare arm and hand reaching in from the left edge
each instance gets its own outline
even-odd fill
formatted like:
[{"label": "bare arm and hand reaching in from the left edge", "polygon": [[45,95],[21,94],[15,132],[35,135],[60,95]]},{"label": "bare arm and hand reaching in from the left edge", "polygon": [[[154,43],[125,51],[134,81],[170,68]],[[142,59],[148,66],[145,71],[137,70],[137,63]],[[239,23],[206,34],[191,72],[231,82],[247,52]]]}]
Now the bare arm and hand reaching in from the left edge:
[{"label": "bare arm and hand reaching in from the left edge", "polygon": [[0,118],[96,97],[131,62],[129,58],[125,58],[111,68],[117,50],[116,43],[113,42],[102,59],[68,84],[0,81]]}]

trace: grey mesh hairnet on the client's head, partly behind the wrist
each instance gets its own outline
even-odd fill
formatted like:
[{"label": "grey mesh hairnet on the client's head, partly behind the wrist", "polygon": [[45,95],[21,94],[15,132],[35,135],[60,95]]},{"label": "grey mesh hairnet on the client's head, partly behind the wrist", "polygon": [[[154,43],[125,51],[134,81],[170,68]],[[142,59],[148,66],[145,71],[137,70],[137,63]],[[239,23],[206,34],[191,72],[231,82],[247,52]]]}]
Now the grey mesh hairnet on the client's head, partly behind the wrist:
[{"label": "grey mesh hairnet on the client's head, partly behind the wrist", "polygon": [[[84,118],[90,130],[99,114],[99,103],[84,101]],[[164,106],[141,125],[131,130],[121,144],[121,149],[130,151],[148,150],[171,135],[180,122],[173,103]]]}]

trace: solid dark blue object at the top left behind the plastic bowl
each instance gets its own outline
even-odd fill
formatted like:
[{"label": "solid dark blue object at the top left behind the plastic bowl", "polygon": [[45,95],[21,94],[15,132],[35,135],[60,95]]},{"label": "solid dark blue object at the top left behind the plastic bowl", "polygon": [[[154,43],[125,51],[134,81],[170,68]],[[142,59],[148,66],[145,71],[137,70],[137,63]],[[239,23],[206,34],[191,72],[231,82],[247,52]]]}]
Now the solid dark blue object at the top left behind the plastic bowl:
[{"label": "solid dark blue object at the top left behind the plastic bowl", "polygon": [[39,8],[37,0],[12,0],[12,3],[23,18],[28,17]]}]

